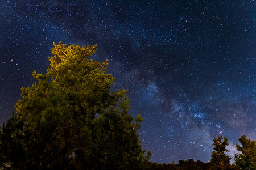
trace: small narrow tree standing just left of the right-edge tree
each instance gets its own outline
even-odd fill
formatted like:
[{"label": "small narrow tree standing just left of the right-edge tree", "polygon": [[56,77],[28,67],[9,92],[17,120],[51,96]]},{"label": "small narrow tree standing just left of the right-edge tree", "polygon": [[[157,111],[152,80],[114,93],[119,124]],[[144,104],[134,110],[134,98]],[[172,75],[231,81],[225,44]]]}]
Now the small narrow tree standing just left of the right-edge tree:
[{"label": "small narrow tree standing just left of the right-edge tree", "polygon": [[228,146],[228,139],[224,138],[222,142],[222,136],[213,139],[213,152],[212,152],[212,159],[210,159],[210,164],[212,164],[213,169],[229,169],[230,167],[230,160],[231,158],[226,155],[224,152],[229,152],[226,149]]}]

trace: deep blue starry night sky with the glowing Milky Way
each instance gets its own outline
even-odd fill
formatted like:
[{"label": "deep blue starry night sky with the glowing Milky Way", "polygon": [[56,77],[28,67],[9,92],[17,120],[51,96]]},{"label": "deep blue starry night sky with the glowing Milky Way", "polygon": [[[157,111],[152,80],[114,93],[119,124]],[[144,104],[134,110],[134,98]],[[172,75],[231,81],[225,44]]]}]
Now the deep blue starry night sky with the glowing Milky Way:
[{"label": "deep blue starry night sky with the glowing Milky Way", "polygon": [[[98,44],[151,160],[208,162],[213,139],[256,139],[255,1],[1,1],[0,123],[53,42]],[[146,64],[145,64],[146,63]]]}]

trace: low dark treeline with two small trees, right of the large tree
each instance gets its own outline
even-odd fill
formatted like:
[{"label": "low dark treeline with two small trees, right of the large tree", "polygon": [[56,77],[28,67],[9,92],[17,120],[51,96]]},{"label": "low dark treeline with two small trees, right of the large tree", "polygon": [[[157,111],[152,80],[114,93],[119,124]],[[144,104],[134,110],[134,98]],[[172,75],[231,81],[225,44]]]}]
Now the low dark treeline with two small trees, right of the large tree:
[{"label": "low dark treeline with two small trees, right of the large tree", "polygon": [[235,162],[230,164],[230,156],[226,155],[226,146],[228,139],[224,138],[222,142],[222,136],[214,138],[213,140],[213,152],[212,159],[208,163],[201,162],[193,159],[179,160],[177,164],[172,162],[171,164],[158,164],[158,163],[147,163],[147,169],[255,169],[256,163],[256,142],[247,139],[245,135],[239,138],[242,146],[236,145],[237,150],[241,151],[240,154],[234,155]]}]

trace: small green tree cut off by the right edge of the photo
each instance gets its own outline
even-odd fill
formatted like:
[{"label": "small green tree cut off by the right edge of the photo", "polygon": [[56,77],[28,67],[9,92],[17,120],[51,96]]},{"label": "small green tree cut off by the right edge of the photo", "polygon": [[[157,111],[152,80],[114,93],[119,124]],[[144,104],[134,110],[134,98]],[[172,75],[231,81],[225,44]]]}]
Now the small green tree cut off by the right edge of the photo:
[{"label": "small green tree cut off by the right edge of the photo", "polygon": [[237,150],[241,151],[241,154],[235,156],[236,164],[240,169],[256,169],[256,141],[247,139],[245,135],[238,140],[242,146],[236,145]]}]

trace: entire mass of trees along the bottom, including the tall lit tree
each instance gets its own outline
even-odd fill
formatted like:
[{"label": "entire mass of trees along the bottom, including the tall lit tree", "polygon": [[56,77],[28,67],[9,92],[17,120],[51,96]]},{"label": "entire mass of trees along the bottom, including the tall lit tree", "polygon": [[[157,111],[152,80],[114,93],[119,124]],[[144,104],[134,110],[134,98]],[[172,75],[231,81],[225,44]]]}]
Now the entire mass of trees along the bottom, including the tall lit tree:
[{"label": "entire mass of trees along the bottom, including the tall lit tree", "polygon": [[222,136],[213,139],[207,163],[151,162],[137,135],[143,119],[129,114],[127,91],[110,91],[108,60],[88,58],[97,47],[53,43],[46,74],[32,73],[36,82],[21,88],[16,112],[1,126],[1,169],[256,169],[256,142],[245,135],[233,164]]}]

